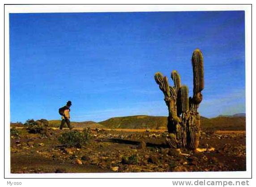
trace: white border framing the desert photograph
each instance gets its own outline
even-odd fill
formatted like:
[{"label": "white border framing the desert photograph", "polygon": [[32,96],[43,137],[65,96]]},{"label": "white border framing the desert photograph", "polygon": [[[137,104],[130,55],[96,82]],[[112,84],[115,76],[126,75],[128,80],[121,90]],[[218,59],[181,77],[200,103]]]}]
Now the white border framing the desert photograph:
[{"label": "white border framing the desert photograph", "polygon": [[[165,172],[165,173],[83,173],[83,174],[10,174],[9,150],[9,13],[24,12],[158,12],[244,10],[246,24],[246,135],[247,171],[236,172]],[[250,178],[252,171],[252,12],[251,5],[5,5],[4,11],[4,116],[5,178]],[[235,75],[234,75],[235,76]]]}]

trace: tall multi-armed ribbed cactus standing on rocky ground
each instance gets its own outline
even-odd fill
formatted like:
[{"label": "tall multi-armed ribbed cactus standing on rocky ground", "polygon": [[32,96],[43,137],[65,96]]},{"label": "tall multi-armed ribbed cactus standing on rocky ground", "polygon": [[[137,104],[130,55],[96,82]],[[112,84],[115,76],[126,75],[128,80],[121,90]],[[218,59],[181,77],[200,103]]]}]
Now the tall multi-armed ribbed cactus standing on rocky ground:
[{"label": "tall multi-armed ribbed cactus standing on rocky ground", "polygon": [[166,143],[173,148],[183,147],[196,149],[200,139],[200,114],[197,112],[202,101],[204,89],[204,66],[201,50],[192,54],[193,97],[188,98],[188,87],[182,85],[177,71],[171,72],[174,86],[170,86],[167,77],[160,72],[155,74],[155,81],[163,92],[169,111]]}]

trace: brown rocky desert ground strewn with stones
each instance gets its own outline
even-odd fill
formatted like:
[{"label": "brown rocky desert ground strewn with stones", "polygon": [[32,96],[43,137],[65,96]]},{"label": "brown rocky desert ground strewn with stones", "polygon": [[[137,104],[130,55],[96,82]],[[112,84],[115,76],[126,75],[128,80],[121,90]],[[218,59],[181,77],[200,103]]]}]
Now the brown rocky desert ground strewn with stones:
[{"label": "brown rocky desert ground strewn with stones", "polygon": [[[92,130],[81,148],[67,148],[57,138],[68,129],[48,129],[47,136],[18,129],[11,137],[11,173],[171,172],[246,170],[245,132],[202,133],[201,150],[170,149],[167,132]],[[203,152],[200,152],[203,151]]]}]

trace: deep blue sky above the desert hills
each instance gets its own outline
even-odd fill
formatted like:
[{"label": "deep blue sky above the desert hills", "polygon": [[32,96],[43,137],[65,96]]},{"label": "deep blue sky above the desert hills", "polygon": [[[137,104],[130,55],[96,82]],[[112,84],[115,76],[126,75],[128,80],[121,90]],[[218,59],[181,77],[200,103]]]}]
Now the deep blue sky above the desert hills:
[{"label": "deep blue sky above the desert hills", "polygon": [[205,61],[199,111],[245,112],[243,11],[10,14],[11,121],[167,116],[154,80],[177,70],[192,96],[193,50]]}]

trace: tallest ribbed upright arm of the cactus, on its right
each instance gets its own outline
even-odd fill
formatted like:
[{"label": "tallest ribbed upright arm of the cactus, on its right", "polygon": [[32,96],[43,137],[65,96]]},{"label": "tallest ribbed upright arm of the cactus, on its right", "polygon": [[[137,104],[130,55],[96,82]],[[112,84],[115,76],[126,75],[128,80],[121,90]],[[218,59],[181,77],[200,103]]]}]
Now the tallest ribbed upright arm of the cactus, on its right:
[{"label": "tallest ribbed upright arm of the cactus, on its right", "polygon": [[201,50],[196,49],[192,54],[194,95],[204,89],[204,59]]}]

